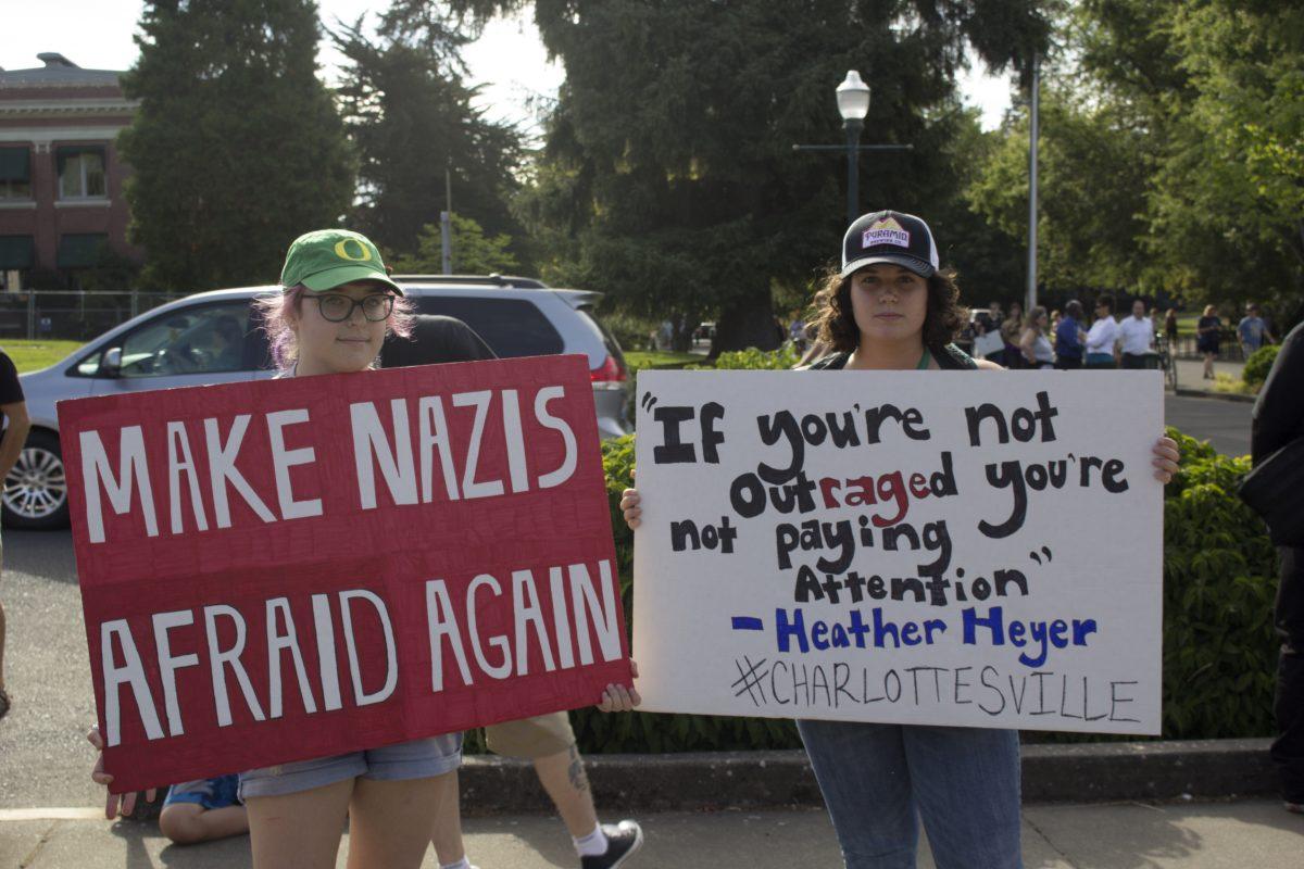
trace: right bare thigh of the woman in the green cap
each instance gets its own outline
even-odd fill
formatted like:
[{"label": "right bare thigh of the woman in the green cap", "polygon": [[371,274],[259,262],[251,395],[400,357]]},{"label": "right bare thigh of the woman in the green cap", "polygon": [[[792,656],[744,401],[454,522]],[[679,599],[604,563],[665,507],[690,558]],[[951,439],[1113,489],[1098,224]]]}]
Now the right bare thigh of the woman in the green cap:
[{"label": "right bare thigh of the woman in the green cap", "polygon": [[349,816],[348,869],[417,869],[450,774],[406,782],[357,779]]}]

